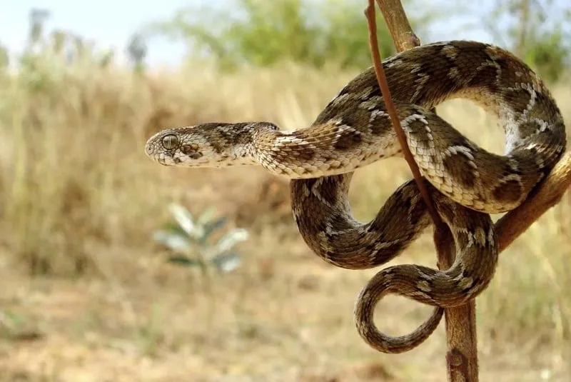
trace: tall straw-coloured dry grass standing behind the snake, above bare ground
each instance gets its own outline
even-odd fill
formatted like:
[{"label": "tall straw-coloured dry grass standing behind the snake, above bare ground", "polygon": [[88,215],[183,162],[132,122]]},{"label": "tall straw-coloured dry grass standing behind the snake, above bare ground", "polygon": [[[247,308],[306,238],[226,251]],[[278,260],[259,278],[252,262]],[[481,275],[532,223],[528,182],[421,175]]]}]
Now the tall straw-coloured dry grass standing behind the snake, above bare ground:
[{"label": "tall straw-coloured dry grass standing behind the snake, above bare ground", "polygon": [[[89,62],[65,68],[43,65],[37,73],[0,77],[5,268],[36,276],[111,272],[120,282],[127,280],[141,258],[111,255],[103,261],[102,253],[125,248],[153,253],[151,233],[167,218],[170,201],[181,201],[194,213],[215,205],[253,228],[244,249],[246,266],[266,258],[268,251],[288,264],[292,246],[304,248],[287,208],[271,209],[287,205],[285,182],[261,169],[166,169],[146,158],[143,144],[159,129],[205,121],[305,126],[355,72],[284,64],[235,74],[208,67],[134,74]],[[570,86],[554,84],[552,91],[571,126]],[[480,109],[451,101],[438,111],[478,144],[502,151],[501,132]],[[351,190],[355,213],[372,217],[383,199],[409,178],[404,161],[397,159],[358,171]],[[261,184],[273,191],[260,193]],[[273,218],[273,213],[281,216]],[[540,365],[569,363],[570,213],[567,194],[502,253],[492,285],[477,302],[483,353],[512,350]],[[430,236],[405,259],[434,265]]]}]

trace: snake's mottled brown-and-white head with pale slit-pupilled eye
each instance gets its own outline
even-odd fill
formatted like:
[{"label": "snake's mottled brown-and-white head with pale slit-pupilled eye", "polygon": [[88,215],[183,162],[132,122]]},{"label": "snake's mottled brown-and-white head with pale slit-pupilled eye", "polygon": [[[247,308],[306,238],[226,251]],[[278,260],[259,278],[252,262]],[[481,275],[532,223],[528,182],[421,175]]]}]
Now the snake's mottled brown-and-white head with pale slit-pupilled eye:
[{"label": "snake's mottled brown-and-white head with pale slit-pupilled eye", "polygon": [[159,131],[145,153],[163,166],[228,167],[258,164],[253,157],[251,123],[210,123]]}]

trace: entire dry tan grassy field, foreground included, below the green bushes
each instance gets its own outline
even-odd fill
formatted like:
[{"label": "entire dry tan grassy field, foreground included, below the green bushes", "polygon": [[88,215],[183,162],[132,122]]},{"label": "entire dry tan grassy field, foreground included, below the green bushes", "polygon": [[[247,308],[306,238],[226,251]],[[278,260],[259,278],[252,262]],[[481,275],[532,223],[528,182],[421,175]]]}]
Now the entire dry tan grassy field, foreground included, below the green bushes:
[{"label": "entire dry tan grassy field, foreground included, below the green bushes", "polygon": [[[442,381],[443,328],[399,356],[360,341],[353,303],[375,270],[313,256],[287,183],[254,168],[163,168],[143,153],[167,126],[309,124],[354,74],[282,66],[140,77],[84,64],[34,89],[30,76],[0,76],[0,381]],[[552,89],[565,108],[570,87]],[[501,151],[502,134],[479,109],[454,101],[439,112]],[[358,217],[409,178],[397,159],[358,171]],[[253,233],[243,267],[210,291],[151,241],[170,201],[193,213],[214,205]],[[567,381],[570,212],[567,194],[502,253],[478,298],[482,381]],[[434,266],[430,235],[403,261]],[[404,333],[430,308],[388,298],[378,312],[381,328]]]}]

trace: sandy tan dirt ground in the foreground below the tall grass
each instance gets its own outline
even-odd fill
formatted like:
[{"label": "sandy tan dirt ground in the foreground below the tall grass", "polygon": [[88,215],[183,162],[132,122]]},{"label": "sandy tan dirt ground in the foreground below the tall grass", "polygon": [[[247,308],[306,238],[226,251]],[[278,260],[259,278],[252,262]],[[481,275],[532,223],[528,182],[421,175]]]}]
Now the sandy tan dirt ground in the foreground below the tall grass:
[{"label": "sandy tan dirt ground in the foreground below the tall grass", "polygon": [[[356,188],[367,179],[358,176]],[[269,183],[273,198],[287,192],[287,184]],[[0,381],[445,380],[443,324],[408,353],[368,348],[355,329],[353,304],[375,270],[348,271],[321,261],[296,233],[287,208],[271,204],[285,221],[281,229],[253,230],[239,248],[243,266],[212,281],[165,263],[158,246],[141,252],[94,245],[89,253],[95,270],[81,278],[30,277],[5,260]],[[428,232],[398,262],[433,266],[432,245]],[[499,308],[524,298],[526,311],[532,309],[523,290],[507,293],[508,303],[501,297],[525,278],[525,271],[510,269],[515,257],[505,255],[478,299],[480,378],[569,381],[567,328],[535,331],[517,322],[531,319],[525,311]],[[536,279],[532,287],[546,280]],[[381,330],[400,334],[431,308],[389,297],[376,311]]]}]

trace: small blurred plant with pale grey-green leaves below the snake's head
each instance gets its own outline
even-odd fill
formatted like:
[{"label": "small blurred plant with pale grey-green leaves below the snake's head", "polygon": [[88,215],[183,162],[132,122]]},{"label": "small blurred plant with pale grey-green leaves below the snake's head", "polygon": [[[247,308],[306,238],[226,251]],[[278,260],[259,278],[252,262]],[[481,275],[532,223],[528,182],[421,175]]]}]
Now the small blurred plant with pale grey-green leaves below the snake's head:
[{"label": "small blurred plant with pale grey-green leaves below the snake's head", "polygon": [[221,236],[227,217],[215,218],[214,208],[208,208],[196,220],[183,206],[173,203],[169,206],[175,222],[166,223],[162,230],[155,231],[153,238],[166,246],[174,254],[168,262],[181,266],[198,266],[203,272],[208,267],[221,272],[231,272],[241,263],[240,256],[233,247],[248,238],[243,228],[231,228]]}]

